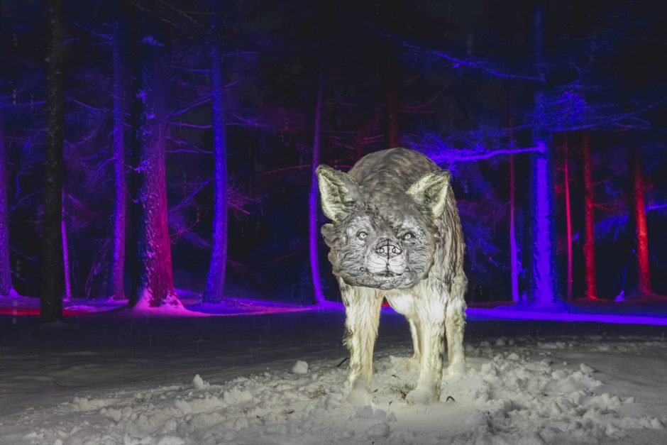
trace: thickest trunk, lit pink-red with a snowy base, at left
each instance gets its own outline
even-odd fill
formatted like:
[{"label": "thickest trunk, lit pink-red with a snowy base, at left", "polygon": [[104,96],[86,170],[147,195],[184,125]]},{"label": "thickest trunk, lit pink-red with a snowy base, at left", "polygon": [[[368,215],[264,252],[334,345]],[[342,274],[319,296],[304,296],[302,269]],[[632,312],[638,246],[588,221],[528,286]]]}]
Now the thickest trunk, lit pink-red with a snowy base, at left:
[{"label": "thickest trunk, lit pink-red with a snowy base, at left", "polygon": [[181,307],[174,290],[165,171],[165,41],[160,23],[140,18],[138,46],[138,307]]}]

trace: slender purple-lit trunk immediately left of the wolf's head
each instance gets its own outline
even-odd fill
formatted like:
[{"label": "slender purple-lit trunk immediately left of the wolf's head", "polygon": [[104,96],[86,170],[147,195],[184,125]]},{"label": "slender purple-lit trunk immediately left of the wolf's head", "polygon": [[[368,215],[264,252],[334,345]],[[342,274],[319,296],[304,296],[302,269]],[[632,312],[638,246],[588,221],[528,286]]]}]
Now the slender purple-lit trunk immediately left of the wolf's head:
[{"label": "slender purple-lit trunk immediately left of the wolf's head", "polygon": [[322,96],[324,89],[324,52],[320,53],[319,75],[317,77],[317,101],[315,105],[315,128],[313,136],[313,161],[310,172],[310,194],[308,197],[308,245],[310,252],[310,275],[313,282],[313,291],[315,293],[315,302],[321,304],[324,302],[324,292],[322,292],[322,280],[319,273],[319,256],[317,254],[317,242],[320,238],[317,230],[317,185],[316,168],[319,165],[320,143],[322,138]]}]

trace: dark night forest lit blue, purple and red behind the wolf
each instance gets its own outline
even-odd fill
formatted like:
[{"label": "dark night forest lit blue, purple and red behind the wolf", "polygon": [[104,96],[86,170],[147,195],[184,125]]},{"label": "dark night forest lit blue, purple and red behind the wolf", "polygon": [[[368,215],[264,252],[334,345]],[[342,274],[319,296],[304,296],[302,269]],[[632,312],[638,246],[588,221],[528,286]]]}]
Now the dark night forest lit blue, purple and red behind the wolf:
[{"label": "dark night forest lit blue, purple and red behind the wolf", "polygon": [[339,301],[314,170],[451,170],[475,304],[667,294],[667,4],[3,0],[0,295]]}]

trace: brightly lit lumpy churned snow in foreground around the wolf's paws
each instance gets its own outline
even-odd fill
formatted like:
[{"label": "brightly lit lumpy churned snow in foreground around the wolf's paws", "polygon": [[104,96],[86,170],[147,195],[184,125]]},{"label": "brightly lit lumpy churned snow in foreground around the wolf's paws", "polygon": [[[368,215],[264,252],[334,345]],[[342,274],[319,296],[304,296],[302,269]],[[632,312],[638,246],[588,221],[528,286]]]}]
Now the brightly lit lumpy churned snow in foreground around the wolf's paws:
[{"label": "brightly lit lumpy churned snow in foreground around the wolf's paws", "polygon": [[440,402],[431,405],[405,401],[417,372],[404,357],[376,357],[373,405],[365,407],[344,401],[339,359],[297,361],[222,385],[197,374],[185,385],[75,397],[23,414],[31,430],[13,443],[577,444],[664,428],[667,419],[642,415],[632,397],[609,392],[591,366],[536,355],[569,347],[549,346],[468,344],[468,370],[444,377]]}]

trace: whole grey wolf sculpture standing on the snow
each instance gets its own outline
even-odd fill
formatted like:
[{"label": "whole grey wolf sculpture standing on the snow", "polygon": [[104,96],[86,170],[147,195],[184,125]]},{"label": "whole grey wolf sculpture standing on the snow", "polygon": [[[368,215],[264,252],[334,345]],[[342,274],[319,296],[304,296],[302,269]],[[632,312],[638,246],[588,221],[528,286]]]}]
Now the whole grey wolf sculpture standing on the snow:
[{"label": "whole grey wolf sculpture standing on the snow", "polygon": [[348,173],[320,165],[317,178],[324,215],[333,221],[322,235],[346,308],[348,401],[371,402],[382,297],[412,333],[408,368],[419,368],[419,378],[407,402],[439,400],[445,332],[448,373],[465,370],[468,280],[450,173],[417,151],[392,148],[364,156]]}]

